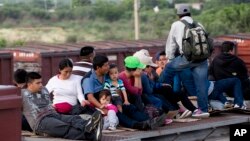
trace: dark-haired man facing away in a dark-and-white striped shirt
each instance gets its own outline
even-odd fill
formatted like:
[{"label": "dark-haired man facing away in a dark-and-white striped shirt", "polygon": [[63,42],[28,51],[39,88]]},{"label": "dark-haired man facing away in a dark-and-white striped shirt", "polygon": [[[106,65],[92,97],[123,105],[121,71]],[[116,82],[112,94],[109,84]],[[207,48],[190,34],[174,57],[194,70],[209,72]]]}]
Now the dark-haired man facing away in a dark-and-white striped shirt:
[{"label": "dark-haired man facing away in a dark-and-white striped shirt", "polygon": [[72,74],[84,76],[92,68],[92,60],[95,56],[95,50],[92,46],[82,47],[80,50],[81,61],[73,64]]}]

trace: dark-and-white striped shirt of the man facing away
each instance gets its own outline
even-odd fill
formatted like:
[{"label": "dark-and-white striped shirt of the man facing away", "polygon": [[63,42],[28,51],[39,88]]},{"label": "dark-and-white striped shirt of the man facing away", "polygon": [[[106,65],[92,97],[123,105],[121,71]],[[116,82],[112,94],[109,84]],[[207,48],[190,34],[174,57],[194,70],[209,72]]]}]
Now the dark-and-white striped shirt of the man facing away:
[{"label": "dark-and-white striped shirt of the man facing away", "polygon": [[92,69],[92,63],[90,62],[85,62],[85,61],[75,62],[73,64],[72,74],[84,76],[91,69]]}]

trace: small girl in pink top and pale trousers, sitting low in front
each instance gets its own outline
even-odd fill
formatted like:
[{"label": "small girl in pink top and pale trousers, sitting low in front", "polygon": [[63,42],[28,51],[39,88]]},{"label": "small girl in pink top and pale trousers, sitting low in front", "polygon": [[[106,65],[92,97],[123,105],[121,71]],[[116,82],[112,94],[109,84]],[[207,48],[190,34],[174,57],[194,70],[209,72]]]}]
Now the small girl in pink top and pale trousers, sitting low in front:
[{"label": "small girl in pink top and pale trousers, sitting low in front", "polygon": [[109,90],[102,90],[99,94],[99,102],[102,104],[101,108],[108,109],[108,114],[104,116],[103,129],[116,130],[119,124],[116,113],[118,112],[115,105],[111,104],[111,93]]}]

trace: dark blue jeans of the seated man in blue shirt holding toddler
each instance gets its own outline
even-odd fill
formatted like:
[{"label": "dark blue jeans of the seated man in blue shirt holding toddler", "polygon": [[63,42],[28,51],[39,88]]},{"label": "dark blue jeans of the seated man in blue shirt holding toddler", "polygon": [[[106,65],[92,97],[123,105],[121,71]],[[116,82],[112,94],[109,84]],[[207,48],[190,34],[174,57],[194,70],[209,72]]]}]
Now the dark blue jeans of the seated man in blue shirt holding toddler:
[{"label": "dark blue jeans of the seated man in blue shirt holding toddler", "polygon": [[117,112],[117,117],[119,123],[127,128],[133,128],[135,123],[149,119],[146,113],[140,112],[133,104],[122,105],[122,111],[122,113]]}]

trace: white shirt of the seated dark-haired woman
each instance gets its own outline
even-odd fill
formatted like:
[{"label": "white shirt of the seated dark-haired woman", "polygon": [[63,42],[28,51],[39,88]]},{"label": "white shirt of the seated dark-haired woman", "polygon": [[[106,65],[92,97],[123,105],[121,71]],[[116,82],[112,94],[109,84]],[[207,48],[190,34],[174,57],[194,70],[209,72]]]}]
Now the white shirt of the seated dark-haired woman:
[{"label": "white shirt of the seated dark-haired woman", "polygon": [[85,98],[82,92],[81,78],[74,74],[71,74],[67,80],[59,79],[58,75],[53,76],[46,85],[49,93],[53,91],[53,104],[68,102],[74,106],[77,104],[77,100],[82,103]]}]

